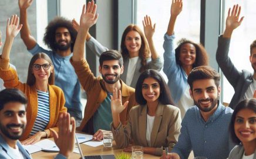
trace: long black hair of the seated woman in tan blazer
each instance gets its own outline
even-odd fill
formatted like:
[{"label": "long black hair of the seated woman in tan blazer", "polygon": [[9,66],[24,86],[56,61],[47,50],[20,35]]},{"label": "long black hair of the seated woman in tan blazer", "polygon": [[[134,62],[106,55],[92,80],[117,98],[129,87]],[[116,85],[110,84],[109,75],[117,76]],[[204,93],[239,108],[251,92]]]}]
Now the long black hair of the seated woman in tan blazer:
[{"label": "long black hair of the seated woman in tan blazer", "polygon": [[161,76],[161,74],[152,69],[145,70],[140,74],[140,77],[138,78],[136,89],[135,89],[135,99],[136,102],[140,105],[145,105],[147,103],[146,99],[143,98],[142,95],[142,84],[146,78],[154,78],[157,82],[159,82],[160,85],[160,95],[159,95],[159,102],[164,105],[174,105],[173,99],[171,99],[171,93],[170,90],[166,84],[166,81],[164,81],[164,78]]}]

